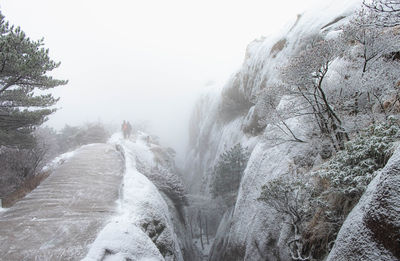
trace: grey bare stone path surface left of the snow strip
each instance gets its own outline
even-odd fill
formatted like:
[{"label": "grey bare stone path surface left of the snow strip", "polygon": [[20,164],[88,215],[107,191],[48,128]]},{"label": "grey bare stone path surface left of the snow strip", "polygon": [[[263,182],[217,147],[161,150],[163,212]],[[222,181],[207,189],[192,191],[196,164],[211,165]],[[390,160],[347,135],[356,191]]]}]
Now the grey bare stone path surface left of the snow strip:
[{"label": "grey bare stone path surface left of the snow strip", "polygon": [[80,260],[117,211],[123,160],[113,146],[79,149],[0,213],[0,260]]}]

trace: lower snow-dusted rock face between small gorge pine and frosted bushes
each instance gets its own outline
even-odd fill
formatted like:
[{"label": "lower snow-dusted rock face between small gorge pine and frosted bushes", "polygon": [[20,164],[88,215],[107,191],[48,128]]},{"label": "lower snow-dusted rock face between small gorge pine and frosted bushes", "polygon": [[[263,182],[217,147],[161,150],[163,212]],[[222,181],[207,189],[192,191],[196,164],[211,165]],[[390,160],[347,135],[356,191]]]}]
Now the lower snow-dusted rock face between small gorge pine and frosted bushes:
[{"label": "lower snow-dusted rock face between small gorge pine and frosted bushes", "polygon": [[[271,135],[274,131],[266,129]],[[289,227],[281,215],[257,199],[262,184],[289,173],[294,157],[308,150],[308,144],[297,142],[271,146],[264,141],[256,145],[242,178],[237,202],[218,229],[211,260],[289,260],[286,247]]]}]

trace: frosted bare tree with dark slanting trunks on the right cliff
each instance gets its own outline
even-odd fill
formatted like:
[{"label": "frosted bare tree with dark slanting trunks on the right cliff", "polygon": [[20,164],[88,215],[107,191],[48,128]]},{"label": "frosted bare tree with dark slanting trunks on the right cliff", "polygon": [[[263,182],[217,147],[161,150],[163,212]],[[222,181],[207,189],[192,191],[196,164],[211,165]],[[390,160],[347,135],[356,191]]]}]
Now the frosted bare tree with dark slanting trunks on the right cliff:
[{"label": "frosted bare tree with dark slanting trunks on the right cliff", "polygon": [[309,44],[283,69],[284,83],[291,95],[301,97],[308,104],[308,109],[298,108],[298,111],[311,112],[321,134],[328,136],[335,149],[340,150],[348,135],[326,95],[324,80],[331,63],[343,52],[343,46],[340,41],[319,37],[306,41]]}]

